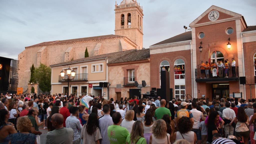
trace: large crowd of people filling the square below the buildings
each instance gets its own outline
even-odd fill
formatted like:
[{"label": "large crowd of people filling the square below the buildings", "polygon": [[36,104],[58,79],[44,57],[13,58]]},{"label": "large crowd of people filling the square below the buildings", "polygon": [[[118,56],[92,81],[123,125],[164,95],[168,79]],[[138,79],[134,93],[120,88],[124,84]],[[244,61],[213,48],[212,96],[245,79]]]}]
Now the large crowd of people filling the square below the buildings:
[{"label": "large crowd of people filling the square below the buildings", "polygon": [[0,143],[255,143],[255,99],[172,99],[1,94]]}]

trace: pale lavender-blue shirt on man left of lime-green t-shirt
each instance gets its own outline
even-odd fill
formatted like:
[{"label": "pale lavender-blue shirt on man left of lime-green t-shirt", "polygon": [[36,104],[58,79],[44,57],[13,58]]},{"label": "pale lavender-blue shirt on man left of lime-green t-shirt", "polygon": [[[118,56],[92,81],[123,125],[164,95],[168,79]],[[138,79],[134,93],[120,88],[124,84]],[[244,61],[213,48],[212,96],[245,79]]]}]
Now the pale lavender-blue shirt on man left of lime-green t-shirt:
[{"label": "pale lavender-blue shirt on man left of lime-green t-shirt", "polygon": [[104,115],[99,119],[100,133],[102,136],[101,144],[110,144],[108,137],[108,127],[113,125],[113,120],[110,115]]}]

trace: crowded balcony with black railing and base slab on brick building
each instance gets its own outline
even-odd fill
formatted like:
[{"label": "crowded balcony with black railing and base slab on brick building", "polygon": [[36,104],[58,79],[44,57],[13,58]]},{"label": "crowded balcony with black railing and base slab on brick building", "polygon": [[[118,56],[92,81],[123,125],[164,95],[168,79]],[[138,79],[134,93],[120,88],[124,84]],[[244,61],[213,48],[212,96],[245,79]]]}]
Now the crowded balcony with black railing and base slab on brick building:
[{"label": "crowded balcony with black railing and base slab on brick building", "polygon": [[211,70],[211,68],[209,68],[208,75],[206,75],[206,70],[201,70],[198,66],[195,69],[195,75],[196,82],[239,81],[238,66],[230,67],[229,69],[219,67],[218,69],[215,68]]}]

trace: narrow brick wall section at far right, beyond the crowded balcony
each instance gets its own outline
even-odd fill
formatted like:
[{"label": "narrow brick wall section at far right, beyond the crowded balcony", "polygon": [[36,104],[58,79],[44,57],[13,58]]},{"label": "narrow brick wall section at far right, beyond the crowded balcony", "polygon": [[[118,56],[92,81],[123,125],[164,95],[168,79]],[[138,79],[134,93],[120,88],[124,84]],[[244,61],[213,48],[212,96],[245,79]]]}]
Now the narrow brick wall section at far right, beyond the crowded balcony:
[{"label": "narrow brick wall section at far right, beyond the crowded balcony", "polygon": [[[256,42],[243,43],[244,50],[244,69],[248,84],[254,84],[254,55],[256,53]],[[252,98],[255,98],[255,85],[251,86]],[[246,85],[246,99],[250,99],[250,87]]]}]

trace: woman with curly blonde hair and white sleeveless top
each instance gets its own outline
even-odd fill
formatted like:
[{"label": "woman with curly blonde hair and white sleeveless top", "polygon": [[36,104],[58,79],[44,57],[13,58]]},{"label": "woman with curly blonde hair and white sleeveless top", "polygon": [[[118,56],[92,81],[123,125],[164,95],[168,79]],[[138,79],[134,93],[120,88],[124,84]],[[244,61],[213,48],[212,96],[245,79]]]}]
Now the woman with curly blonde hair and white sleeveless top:
[{"label": "woman with curly blonde hair and white sleeveless top", "polygon": [[166,132],[166,122],[159,119],[154,122],[152,135],[150,136],[150,144],[169,144],[170,135]]}]

